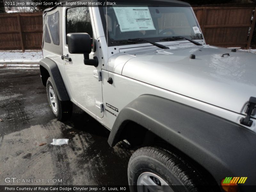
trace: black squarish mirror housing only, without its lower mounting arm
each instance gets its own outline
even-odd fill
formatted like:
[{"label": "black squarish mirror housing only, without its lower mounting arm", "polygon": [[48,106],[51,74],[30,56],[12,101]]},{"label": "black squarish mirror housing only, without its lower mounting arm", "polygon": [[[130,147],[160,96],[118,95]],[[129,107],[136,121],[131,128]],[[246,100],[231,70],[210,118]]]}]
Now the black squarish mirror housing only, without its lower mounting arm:
[{"label": "black squarish mirror housing only, without its lower mounting arm", "polygon": [[72,54],[89,54],[92,52],[91,37],[87,33],[68,33],[68,52]]}]

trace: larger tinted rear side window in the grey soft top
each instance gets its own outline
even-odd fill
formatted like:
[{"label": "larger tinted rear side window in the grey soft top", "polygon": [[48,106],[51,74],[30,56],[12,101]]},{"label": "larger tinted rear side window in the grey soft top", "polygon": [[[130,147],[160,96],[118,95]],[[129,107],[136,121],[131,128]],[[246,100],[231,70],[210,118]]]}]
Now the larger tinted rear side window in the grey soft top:
[{"label": "larger tinted rear side window in the grey soft top", "polygon": [[53,44],[60,45],[60,13],[57,11],[49,15],[47,20]]}]

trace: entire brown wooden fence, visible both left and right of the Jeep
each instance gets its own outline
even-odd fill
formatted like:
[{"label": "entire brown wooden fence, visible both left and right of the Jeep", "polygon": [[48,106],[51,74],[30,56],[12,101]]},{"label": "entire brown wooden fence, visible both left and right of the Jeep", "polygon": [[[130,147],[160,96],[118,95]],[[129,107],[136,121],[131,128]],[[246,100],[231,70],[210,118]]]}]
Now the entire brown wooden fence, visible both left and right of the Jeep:
[{"label": "entire brown wooden fence, visible both left and right of the Jeep", "polygon": [[[193,7],[207,44],[249,48],[255,7]],[[0,14],[0,50],[41,49],[42,12]]]}]

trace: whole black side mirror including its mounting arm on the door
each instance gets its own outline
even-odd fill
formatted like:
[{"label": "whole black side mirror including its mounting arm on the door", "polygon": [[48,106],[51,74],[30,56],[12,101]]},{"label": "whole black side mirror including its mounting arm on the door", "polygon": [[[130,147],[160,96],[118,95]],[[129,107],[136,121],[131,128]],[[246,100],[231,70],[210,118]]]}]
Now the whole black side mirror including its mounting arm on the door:
[{"label": "whole black side mirror including its mounting arm on the door", "polygon": [[92,52],[91,37],[87,33],[68,33],[67,35],[68,52],[73,54],[84,54],[84,64],[97,67],[98,58],[89,59],[89,53]]}]

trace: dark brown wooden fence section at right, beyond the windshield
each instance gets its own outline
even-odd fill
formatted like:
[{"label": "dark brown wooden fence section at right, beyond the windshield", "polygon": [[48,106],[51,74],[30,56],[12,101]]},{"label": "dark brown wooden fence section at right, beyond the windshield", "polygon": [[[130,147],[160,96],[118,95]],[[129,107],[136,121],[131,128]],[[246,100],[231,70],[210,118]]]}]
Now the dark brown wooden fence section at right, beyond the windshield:
[{"label": "dark brown wooden fence section at right, beyond the windshield", "polygon": [[[256,7],[194,7],[207,44],[250,47]],[[252,20],[252,15],[253,20]],[[252,29],[249,33],[249,30]]]}]

